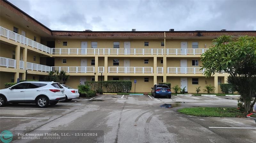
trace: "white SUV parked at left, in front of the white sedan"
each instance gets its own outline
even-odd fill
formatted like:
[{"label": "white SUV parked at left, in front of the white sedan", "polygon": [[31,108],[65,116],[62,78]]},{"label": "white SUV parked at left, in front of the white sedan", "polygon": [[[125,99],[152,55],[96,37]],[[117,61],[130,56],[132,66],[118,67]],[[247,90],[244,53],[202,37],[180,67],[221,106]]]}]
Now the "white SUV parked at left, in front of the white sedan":
[{"label": "white SUV parked at left, in front of the white sedan", "polygon": [[58,82],[20,82],[0,90],[0,106],[7,103],[36,103],[38,107],[65,100],[64,88]]}]

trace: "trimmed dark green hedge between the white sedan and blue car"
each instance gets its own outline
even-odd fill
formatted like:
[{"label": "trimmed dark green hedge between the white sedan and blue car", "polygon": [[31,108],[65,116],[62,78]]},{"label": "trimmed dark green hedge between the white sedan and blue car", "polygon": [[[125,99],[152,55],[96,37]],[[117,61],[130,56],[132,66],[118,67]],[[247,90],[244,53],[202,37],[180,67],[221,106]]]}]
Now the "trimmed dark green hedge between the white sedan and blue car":
[{"label": "trimmed dark green hedge between the white sedan and blue car", "polygon": [[[91,90],[100,89],[101,82],[84,82],[90,86]],[[126,92],[129,93],[132,89],[132,81],[103,81],[102,87],[107,89],[107,92]]]}]

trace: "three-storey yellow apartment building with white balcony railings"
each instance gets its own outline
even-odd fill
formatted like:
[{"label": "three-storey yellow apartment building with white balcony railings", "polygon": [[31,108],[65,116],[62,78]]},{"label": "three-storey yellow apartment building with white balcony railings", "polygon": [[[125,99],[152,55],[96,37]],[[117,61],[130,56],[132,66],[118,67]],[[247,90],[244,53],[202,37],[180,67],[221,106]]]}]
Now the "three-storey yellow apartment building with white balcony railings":
[{"label": "three-storey yellow apartment building with white balcony railings", "polygon": [[[137,80],[136,92],[169,82],[195,93],[196,87],[226,83],[228,74],[205,78],[200,55],[220,35],[256,36],[256,31],[54,31],[1,0],[0,88],[17,79],[43,80],[64,70],[67,85],[85,81]],[[134,91],[134,83],[132,83]]]}]

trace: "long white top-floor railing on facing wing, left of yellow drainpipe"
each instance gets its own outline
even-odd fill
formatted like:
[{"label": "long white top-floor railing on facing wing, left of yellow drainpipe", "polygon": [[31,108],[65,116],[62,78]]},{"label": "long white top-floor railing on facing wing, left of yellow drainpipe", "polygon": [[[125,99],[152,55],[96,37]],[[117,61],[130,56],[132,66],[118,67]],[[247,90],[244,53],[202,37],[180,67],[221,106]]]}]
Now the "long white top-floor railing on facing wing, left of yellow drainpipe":
[{"label": "long white top-floor railing on facing wing, left of yellow drainpipe", "polygon": [[164,54],[164,49],[141,49],[141,48],[52,48],[52,54],[140,54],[153,55]]}]

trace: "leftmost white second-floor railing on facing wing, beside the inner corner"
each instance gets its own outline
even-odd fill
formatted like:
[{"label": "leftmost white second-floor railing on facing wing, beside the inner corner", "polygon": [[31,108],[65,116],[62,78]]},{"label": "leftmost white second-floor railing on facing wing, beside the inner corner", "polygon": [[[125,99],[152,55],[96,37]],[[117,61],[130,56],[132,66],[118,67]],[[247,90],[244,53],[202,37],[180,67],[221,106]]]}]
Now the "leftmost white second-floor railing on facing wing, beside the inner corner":
[{"label": "leftmost white second-floor railing on facing wing, beside the inner corner", "polygon": [[55,70],[67,73],[94,73],[95,67],[51,67],[51,71]]}]

